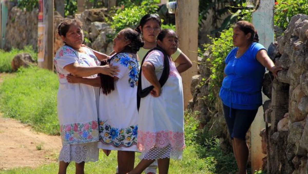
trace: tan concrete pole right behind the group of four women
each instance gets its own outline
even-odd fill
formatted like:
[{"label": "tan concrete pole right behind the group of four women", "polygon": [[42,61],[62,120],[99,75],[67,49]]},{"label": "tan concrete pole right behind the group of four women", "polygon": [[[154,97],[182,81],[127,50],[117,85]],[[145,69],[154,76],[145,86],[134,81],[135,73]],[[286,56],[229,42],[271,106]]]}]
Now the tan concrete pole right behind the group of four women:
[{"label": "tan concrete pole right behind the group of four women", "polygon": [[181,73],[184,92],[184,109],[192,99],[190,92],[191,78],[197,75],[198,58],[198,0],[177,0],[176,33],[179,37],[179,48],[193,62],[193,66]]}]

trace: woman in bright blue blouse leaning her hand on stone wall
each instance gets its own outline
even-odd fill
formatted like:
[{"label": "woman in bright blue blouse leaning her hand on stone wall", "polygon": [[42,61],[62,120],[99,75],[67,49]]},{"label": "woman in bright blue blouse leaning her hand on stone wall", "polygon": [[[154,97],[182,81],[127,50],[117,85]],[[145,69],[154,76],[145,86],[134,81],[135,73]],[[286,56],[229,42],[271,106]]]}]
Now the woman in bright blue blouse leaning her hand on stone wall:
[{"label": "woman in bright blue blouse leaning her hand on stone wall", "polygon": [[219,95],[223,102],[225,119],[233,140],[233,153],[238,173],[247,174],[249,149],[245,135],[262,105],[262,81],[266,67],[274,76],[276,67],[259,41],[254,26],[238,21],[233,29],[233,48],[225,60],[225,75]]}]

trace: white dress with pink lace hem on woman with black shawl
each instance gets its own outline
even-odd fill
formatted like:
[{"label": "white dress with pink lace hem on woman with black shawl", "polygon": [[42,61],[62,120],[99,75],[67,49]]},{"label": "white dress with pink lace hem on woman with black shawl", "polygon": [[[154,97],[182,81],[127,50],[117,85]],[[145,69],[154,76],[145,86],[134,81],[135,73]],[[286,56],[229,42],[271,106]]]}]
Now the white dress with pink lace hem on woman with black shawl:
[{"label": "white dress with pink lace hem on woman with black shawl", "polygon": [[[153,97],[149,94],[140,100],[138,149],[143,157],[152,148],[165,151],[168,146],[171,146],[171,152],[168,151],[170,158],[180,159],[185,147],[182,79],[174,62],[170,57],[168,58],[170,73],[167,82],[161,88],[160,96]],[[164,68],[164,54],[154,50],[148,54],[144,61],[154,65],[156,76],[160,79]],[[151,86],[152,84],[144,75],[141,75],[142,89]],[[158,158],[160,157],[158,156]]]}]

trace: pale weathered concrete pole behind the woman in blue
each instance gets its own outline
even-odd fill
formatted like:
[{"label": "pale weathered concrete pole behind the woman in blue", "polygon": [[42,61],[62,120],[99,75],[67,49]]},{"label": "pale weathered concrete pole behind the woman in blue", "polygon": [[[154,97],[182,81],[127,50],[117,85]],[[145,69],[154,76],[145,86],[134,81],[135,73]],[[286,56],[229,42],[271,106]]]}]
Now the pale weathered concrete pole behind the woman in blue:
[{"label": "pale weathered concrete pole behind the woman in blue", "polygon": [[[252,13],[252,23],[258,32],[259,43],[266,49],[274,42],[274,0],[262,0],[258,9]],[[263,102],[268,98],[262,93]],[[262,154],[260,130],[265,128],[263,107],[259,107],[257,116],[251,125],[251,172],[262,168]],[[268,159],[269,160],[269,159]]]}]

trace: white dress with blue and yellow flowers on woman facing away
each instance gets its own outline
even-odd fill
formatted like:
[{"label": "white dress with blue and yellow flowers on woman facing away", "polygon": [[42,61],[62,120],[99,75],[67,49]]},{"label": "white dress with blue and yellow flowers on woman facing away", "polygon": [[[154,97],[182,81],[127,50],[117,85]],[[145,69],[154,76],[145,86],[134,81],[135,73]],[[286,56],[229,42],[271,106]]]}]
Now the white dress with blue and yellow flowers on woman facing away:
[{"label": "white dress with blue and yellow flowers on woman facing away", "polygon": [[100,149],[137,151],[137,83],[139,62],[136,54],[120,53],[110,62],[119,67],[115,90],[99,96]]}]

